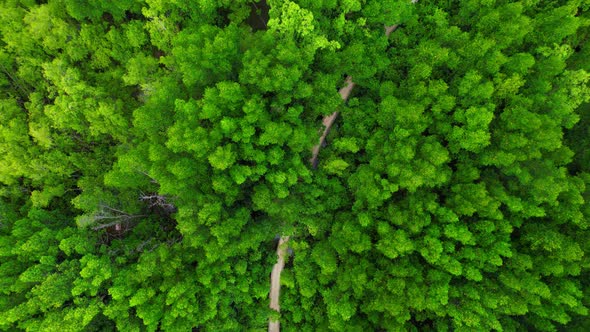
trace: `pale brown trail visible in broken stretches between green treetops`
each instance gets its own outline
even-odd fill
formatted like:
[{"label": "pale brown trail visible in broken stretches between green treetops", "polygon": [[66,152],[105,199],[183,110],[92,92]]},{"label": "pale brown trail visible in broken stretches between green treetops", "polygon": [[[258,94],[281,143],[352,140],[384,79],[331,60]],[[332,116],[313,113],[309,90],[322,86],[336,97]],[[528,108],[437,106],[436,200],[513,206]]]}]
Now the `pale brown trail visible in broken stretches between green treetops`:
[{"label": "pale brown trail visible in broken stretches between green treetops", "polygon": [[[412,3],[416,3],[417,0],[412,0]],[[389,37],[389,35],[395,31],[395,29],[397,29],[398,25],[392,25],[392,26],[386,26],[385,27],[385,35],[387,37]],[[346,85],[341,88],[338,93],[340,93],[340,97],[342,97],[342,100],[346,103],[348,101],[348,98],[350,97],[350,94],[352,92],[352,89],[354,88],[355,84],[352,81],[352,77],[348,76],[346,77],[346,81],[345,81]],[[317,167],[318,164],[318,156],[320,154],[320,149],[325,146],[326,144],[326,137],[328,136],[328,133],[330,132],[330,128],[332,128],[332,125],[334,124],[334,122],[336,121],[336,118],[338,118],[338,114],[339,112],[336,111],[328,116],[325,116],[324,119],[322,120],[322,124],[324,125],[324,130],[320,136],[319,142],[317,145],[315,145],[313,147],[312,150],[312,157],[309,160],[309,162],[311,163],[311,166],[313,168]],[[279,244],[277,246],[277,263],[273,266],[272,268],[272,272],[270,274],[270,308],[280,312],[281,308],[279,305],[279,297],[280,297],[280,291],[281,291],[281,272],[283,271],[283,268],[285,267],[285,255],[287,254],[287,245],[286,243],[289,241],[289,237],[288,236],[281,236],[280,240],[279,240]],[[268,322],[268,332],[279,332],[280,331],[280,322],[279,321],[274,321],[274,320],[269,320]]]}]

